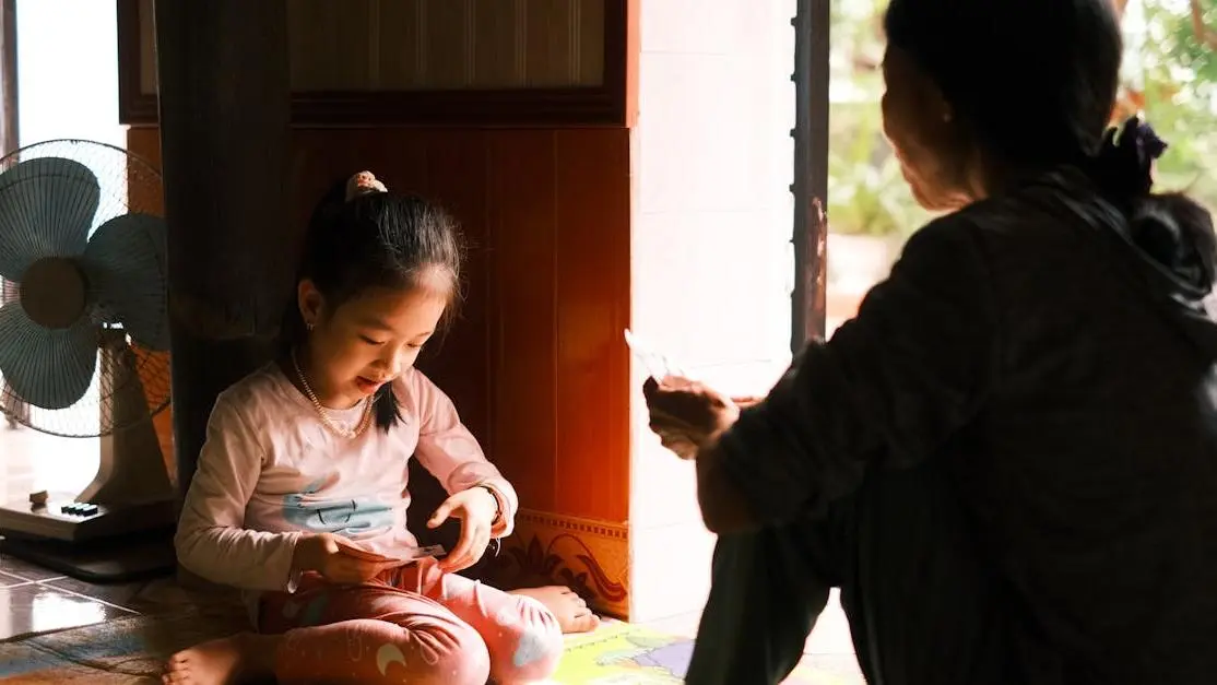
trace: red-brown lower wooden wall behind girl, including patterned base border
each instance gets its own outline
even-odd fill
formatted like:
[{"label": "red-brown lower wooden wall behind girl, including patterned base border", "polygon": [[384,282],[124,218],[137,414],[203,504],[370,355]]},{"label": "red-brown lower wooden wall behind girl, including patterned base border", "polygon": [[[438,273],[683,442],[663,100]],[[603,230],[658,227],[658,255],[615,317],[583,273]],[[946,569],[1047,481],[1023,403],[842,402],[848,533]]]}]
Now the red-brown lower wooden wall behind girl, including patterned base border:
[{"label": "red-brown lower wooden wall behind girl, including patterned base border", "polygon": [[[158,159],[157,129],[128,142]],[[420,366],[520,490],[497,577],[583,584],[624,614],[629,130],[296,129],[285,220],[303,228],[364,168],[443,203],[472,243],[461,314]]]}]

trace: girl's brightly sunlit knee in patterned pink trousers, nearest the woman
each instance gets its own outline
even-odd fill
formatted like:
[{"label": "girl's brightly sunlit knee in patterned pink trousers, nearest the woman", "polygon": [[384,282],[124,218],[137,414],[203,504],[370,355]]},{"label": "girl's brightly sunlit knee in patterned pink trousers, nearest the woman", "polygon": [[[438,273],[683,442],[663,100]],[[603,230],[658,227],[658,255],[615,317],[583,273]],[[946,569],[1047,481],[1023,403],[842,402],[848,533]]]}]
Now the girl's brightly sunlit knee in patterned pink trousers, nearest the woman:
[{"label": "girl's brightly sunlit knee in patterned pink trousers, nearest the woman", "polygon": [[504,685],[544,680],[562,658],[562,629],[548,608],[532,597],[516,597],[518,612],[500,614],[494,634],[486,635],[490,673]]}]

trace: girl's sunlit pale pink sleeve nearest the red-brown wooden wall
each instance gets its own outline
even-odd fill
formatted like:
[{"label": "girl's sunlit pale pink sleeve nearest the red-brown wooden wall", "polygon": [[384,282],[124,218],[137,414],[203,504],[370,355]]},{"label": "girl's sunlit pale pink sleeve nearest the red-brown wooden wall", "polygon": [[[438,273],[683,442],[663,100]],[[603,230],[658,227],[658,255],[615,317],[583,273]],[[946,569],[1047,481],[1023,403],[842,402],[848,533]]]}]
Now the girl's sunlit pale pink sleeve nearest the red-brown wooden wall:
[{"label": "girl's sunlit pale pink sleeve nearest the red-brown wooden wall", "polygon": [[406,388],[417,403],[421,426],[419,462],[436,477],[449,495],[470,488],[486,488],[499,507],[490,534],[505,538],[515,528],[520,500],[516,489],[486,459],[477,438],[460,421],[452,399],[421,371],[413,371]]}]

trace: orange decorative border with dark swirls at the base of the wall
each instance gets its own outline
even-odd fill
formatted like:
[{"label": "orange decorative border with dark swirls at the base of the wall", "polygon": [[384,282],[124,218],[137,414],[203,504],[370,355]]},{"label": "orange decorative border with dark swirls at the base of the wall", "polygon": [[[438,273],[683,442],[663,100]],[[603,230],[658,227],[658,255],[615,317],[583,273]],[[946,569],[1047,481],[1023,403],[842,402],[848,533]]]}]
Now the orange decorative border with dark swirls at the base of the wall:
[{"label": "orange decorative border with dark swirls at the base of the wall", "polygon": [[600,613],[629,614],[629,527],[520,510],[516,529],[486,571],[500,588],[567,585]]}]

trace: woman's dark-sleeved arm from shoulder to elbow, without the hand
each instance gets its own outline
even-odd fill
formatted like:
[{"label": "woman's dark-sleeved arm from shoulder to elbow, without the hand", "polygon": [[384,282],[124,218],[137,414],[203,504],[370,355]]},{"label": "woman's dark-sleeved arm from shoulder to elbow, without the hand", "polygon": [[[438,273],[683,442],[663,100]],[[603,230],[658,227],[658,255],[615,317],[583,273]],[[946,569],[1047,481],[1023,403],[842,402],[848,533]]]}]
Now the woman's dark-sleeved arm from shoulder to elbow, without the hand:
[{"label": "woman's dark-sleeved arm from shoulder to elbow, without the hand", "polygon": [[975,240],[958,217],[915,234],[858,315],[702,448],[711,530],[820,510],[868,468],[933,454],[976,415],[997,374],[999,326]]}]

